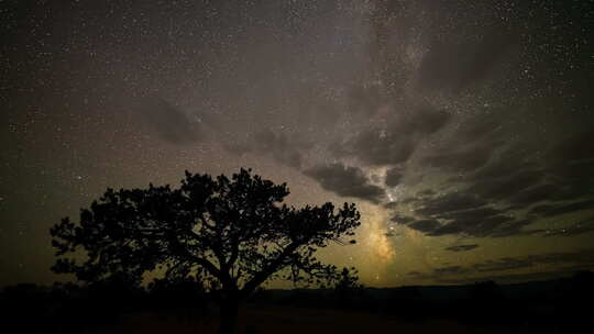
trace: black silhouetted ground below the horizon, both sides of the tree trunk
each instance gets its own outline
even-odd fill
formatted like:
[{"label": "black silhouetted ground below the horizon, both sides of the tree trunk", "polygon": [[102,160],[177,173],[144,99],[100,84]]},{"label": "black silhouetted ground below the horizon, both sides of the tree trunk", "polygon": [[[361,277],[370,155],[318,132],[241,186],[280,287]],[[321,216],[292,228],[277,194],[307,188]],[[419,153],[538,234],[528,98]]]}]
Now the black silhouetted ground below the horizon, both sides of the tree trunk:
[{"label": "black silhouetted ground below the horizon, both sides of the tree trunk", "polygon": [[[18,285],[0,292],[0,321],[25,334],[216,333],[219,300],[196,282]],[[593,302],[591,271],[507,286],[262,290],[238,334],[594,333]]]}]

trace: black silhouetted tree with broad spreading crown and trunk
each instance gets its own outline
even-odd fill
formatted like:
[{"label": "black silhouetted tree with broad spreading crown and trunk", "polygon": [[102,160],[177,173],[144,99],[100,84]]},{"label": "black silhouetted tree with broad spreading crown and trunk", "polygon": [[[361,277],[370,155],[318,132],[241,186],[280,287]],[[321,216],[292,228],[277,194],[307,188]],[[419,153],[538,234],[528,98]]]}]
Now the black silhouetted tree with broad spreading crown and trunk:
[{"label": "black silhouetted tree with broad spreading crown and trunk", "polygon": [[51,229],[56,272],[98,281],[124,274],[141,281],[162,269],[165,277],[199,275],[221,286],[220,333],[235,329],[239,304],[268,279],[332,282],[336,266],[316,258],[319,247],[354,235],[360,213],[354,204],[332,203],[302,209],[283,204],[286,183],[275,185],[251,170],[231,179],[221,175],[186,177],[178,189],[108,189],[80,212]]}]

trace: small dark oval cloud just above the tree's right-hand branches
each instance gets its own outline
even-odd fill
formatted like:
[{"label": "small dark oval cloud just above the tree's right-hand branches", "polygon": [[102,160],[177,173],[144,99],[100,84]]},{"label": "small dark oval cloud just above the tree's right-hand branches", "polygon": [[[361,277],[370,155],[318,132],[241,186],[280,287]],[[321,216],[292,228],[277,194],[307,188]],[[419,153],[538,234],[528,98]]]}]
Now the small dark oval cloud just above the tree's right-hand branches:
[{"label": "small dark oval cloud just above the tree's right-hand branches", "polygon": [[304,171],[317,180],[320,186],[343,197],[353,197],[373,203],[380,203],[384,198],[384,189],[371,185],[361,168],[344,166],[336,163],[316,166]]}]

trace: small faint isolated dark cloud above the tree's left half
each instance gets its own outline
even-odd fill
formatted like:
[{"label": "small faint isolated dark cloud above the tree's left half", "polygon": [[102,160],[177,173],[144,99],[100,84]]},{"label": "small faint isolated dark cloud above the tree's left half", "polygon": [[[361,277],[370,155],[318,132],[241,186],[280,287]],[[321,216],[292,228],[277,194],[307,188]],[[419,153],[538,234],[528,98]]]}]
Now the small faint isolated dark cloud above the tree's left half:
[{"label": "small faint isolated dark cloud above the tree's left half", "polygon": [[188,144],[202,140],[199,123],[161,98],[150,98],[141,103],[141,115],[157,135],[174,144]]}]

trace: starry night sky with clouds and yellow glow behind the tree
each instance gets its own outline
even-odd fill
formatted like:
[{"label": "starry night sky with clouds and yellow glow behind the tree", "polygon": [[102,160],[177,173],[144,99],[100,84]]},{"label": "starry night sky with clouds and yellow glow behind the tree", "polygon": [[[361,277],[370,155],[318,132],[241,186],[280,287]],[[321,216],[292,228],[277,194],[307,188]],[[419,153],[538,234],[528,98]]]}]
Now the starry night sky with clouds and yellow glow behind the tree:
[{"label": "starry night sky with clouds and yellow glow behind the tree", "polygon": [[[108,187],[355,202],[372,287],[594,268],[594,1],[0,1],[0,286]],[[272,286],[282,286],[273,282]]]}]

